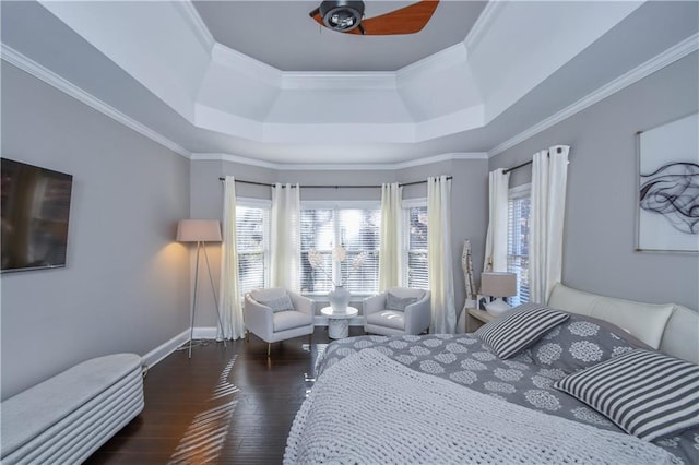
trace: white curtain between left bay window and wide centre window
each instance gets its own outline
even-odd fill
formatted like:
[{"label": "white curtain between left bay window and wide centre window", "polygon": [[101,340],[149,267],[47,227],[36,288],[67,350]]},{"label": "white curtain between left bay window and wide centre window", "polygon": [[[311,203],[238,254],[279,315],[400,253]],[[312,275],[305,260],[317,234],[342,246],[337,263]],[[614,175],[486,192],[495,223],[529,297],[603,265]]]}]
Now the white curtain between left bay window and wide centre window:
[{"label": "white curtain between left bay window and wide centre window", "polygon": [[301,201],[298,184],[272,186],[270,212],[270,284],[294,293],[300,290]]}]

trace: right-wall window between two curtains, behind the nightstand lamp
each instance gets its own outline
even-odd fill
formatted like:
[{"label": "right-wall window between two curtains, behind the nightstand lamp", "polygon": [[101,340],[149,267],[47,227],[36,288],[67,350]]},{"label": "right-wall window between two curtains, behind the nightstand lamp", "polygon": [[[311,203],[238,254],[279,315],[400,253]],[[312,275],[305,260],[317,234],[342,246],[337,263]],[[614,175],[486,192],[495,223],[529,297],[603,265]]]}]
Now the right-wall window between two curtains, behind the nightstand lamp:
[{"label": "right-wall window between two curtains, behind the nightstand lamp", "polygon": [[507,271],[517,275],[518,293],[509,298],[513,307],[529,301],[530,190],[530,184],[509,190]]}]

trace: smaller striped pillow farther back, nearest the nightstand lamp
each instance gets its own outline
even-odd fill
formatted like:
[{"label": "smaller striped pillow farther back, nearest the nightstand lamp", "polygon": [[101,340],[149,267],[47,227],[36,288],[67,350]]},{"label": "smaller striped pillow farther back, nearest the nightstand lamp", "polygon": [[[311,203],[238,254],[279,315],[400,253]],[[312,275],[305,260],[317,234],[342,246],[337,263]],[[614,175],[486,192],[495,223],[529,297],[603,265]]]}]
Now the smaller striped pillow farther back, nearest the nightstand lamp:
[{"label": "smaller striped pillow farther back, nearest the nightstand lamp", "polygon": [[537,303],[524,303],[481,326],[475,335],[495,350],[498,357],[510,358],[568,318],[568,313]]}]

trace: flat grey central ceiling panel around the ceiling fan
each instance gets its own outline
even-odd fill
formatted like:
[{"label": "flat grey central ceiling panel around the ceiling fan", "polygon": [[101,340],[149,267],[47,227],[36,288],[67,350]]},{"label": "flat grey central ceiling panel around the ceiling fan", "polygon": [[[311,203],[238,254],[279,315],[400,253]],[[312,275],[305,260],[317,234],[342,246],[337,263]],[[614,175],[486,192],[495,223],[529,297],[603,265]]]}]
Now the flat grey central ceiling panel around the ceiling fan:
[{"label": "flat grey central ceiling panel around the ceiling fan", "polygon": [[[214,39],[281,71],[396,71],[463,41],[486,1],[442,1],[418,33],[340,34],[308,13],[320,1],[194,1]],[[414,2],[367,1],[365,17]]]}]

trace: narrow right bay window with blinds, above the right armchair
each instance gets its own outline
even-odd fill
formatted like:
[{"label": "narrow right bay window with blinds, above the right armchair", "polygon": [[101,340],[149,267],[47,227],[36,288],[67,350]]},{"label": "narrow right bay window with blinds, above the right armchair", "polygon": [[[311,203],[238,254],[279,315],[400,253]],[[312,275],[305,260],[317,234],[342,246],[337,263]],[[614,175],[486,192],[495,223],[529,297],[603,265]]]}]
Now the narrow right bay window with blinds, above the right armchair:
[{"label": "narrow right bay window with blinds, above the right armchair", "polygon": [[403,284],[428,289],[427,262],[427,201],[403,202]]}]

